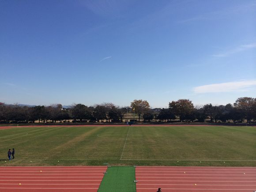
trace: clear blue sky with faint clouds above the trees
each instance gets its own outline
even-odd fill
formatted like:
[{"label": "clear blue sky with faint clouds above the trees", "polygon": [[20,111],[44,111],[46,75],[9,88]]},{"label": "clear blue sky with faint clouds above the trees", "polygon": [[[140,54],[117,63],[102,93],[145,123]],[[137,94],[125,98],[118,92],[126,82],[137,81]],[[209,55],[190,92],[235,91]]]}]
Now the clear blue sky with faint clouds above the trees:
[{"label": "clear blue sky with faint clouds above the trees", "polygon": [[0,0],[0,102],[256,97],[256,0]]}]

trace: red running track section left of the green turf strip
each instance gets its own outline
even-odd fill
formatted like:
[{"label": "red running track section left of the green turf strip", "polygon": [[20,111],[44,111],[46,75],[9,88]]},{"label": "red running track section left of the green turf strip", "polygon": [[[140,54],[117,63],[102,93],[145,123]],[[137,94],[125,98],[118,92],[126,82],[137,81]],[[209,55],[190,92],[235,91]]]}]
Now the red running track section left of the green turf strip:
[{"label": "red running track section left of the green turf strip", "polygon": [[97,192],[107,166],[0,167],[0,192]]}]

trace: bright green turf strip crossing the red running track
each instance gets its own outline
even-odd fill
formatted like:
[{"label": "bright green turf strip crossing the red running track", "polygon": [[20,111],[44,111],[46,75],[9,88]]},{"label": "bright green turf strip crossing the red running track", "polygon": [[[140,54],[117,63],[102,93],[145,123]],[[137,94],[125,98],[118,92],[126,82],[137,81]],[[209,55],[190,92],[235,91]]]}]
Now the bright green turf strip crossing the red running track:
[{"label": "bright green turf strip crossing the red running track", "polygon": [[135,168],[113,166],[107,169],[98,192],[136,192]]}]

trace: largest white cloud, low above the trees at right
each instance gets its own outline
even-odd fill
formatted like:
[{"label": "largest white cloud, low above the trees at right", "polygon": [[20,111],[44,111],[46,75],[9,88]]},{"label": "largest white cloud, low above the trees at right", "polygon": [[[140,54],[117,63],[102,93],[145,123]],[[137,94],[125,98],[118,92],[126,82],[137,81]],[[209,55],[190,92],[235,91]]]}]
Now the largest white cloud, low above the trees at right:
[{"label": "largest white cloud, low above the trees at right", "polygon": [[256,80],[243,80],[233,81],[228,83],[217,83],[210,85],[203,85],[194,87],[193,91],[196,94],[200,93],[222,93],[222,92],[233,92],[233,91],[245,91],[249,87],[256,86]]}]

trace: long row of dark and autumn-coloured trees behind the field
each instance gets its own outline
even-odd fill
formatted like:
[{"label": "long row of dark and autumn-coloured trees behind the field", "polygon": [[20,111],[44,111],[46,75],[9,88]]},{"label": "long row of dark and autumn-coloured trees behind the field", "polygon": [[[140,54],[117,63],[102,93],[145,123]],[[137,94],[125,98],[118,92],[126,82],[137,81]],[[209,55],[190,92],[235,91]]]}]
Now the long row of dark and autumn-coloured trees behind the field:
[{"label": "long row of dark and autumn-coloured trees behind the field", "polygon": [[[213,106],[211,104],[202,107],[194,107],[189,99],[179,99],[169,102],[167,109],[151,109],[147,101],[134,100],[130,106],[118,107],[113,103],[86,106],[83,104],[73,105],[64,109],[62,105],[50,106],[19,106],[5,105],[0,102],[0,122],[46,122],[46,121],[89,121],[89,122],[122,122],[128,118],[127,114],[136,113],[138,120],[143,117],[144,121],[198,121],[205,122],[246,122],[256,120],[256,98],[238,98],[236,102],[227,105]],[[132,120],[133,118],[130,118]]]}]

